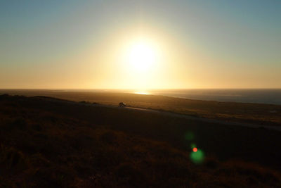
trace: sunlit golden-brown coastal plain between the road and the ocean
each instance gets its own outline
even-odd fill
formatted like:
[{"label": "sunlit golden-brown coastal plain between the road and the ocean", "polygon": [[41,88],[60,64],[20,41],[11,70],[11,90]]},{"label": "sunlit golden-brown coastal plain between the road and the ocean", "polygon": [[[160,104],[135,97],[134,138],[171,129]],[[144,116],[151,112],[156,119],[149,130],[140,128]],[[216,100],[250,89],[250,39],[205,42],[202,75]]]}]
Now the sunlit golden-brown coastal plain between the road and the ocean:
[{"label": "sunlit golden-brown coastal plain between the road and the ocean", "polygon": [[63,92],[51,90],[0,90],[0,94],[25,96],[53,96],[71,101],[89,101],[117,105],[120,101],[129,106],[184,113],[199,117],[255,123],[263,126],[281,125],[281,106],[271,104],[247,104],[235,102],[200,101],[169,96],[153,96],[123,93]]}]

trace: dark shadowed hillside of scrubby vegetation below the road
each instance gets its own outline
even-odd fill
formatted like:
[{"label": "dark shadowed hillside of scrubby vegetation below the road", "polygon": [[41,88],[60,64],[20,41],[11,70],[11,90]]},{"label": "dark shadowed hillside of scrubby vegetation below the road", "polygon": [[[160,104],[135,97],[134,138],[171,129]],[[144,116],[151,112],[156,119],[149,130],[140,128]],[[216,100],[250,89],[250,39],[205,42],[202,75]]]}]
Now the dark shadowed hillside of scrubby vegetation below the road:
[{"label": "dark shadowed hillside of scrubby vegetation below the road", "polygon": [[[0,187],[280,187],[280,136],[2,95]],[[190,158],[192,145],[204,152],[201,161]]]}]

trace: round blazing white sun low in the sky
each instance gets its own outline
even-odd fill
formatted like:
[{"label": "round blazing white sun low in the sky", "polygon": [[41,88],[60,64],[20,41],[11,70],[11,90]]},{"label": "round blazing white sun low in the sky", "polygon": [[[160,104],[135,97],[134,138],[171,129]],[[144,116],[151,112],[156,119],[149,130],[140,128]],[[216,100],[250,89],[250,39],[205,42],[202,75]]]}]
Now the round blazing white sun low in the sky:
[{"label": "round blazing white sun low in the sky", "polygon": [[157,49],[155,45],[144,40],[135,42],[129,47],[128,60],[135,70],[149,70],[157,61]]}]

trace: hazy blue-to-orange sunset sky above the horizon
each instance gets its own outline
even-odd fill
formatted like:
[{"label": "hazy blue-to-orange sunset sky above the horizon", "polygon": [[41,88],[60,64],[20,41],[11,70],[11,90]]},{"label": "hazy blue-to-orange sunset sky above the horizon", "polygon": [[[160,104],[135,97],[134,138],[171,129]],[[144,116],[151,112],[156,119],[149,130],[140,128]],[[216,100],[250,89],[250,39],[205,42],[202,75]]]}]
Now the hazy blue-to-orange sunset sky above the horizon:
[{"label": "hazy blue-to-orange sunset sky above the horizon", "polygon": [[281,88],[281,1],[0,1],[0,88]]}]

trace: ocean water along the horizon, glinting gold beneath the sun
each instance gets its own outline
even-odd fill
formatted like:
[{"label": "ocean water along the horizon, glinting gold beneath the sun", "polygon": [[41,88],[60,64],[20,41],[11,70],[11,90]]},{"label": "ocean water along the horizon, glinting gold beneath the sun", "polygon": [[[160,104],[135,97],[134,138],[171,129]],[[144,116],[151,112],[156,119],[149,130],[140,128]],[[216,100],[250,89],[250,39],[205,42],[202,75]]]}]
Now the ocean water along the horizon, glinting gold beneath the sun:
[{"label": "ocean water along the horizon, glinting gold beneath the sun", "polygon": [[281,105],[281,89],[159,89],[150,90],[148,94],[207,101]]}]

